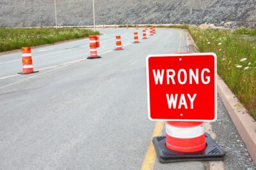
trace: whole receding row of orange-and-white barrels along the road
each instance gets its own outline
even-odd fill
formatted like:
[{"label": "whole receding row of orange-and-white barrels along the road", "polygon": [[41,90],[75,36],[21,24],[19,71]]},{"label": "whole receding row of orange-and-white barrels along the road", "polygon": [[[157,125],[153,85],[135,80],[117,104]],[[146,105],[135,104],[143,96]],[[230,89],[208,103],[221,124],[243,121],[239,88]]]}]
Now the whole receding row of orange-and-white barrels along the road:
[{"label": "whole receding row of orange-and-white barrels along the road", "polygon": [[[128,29],[128,25],[126,27]],[[138,29],[138,25],[136,25],[136,29]],[[145,25],[145,29],[142,32],[143,39],[147,39],[147,25]],[[150,36],[156,34],[156,27],[150,27]],[[134,32],[134,42],[139,43],[138,32]],[[100,47],[99,36],[89,36],[89,46],[90,46],[90,56],[87,59],[99,59],[100,56],[97,53],[97,48]],[[22,72],[19,74],[30,74],[36,73],[38,71],[34,71],[33,69],[33,61],[31,55],[30,47],[22,47]],[[115,50],[123,50],[121,36],[116,36],[116,48]]]}]

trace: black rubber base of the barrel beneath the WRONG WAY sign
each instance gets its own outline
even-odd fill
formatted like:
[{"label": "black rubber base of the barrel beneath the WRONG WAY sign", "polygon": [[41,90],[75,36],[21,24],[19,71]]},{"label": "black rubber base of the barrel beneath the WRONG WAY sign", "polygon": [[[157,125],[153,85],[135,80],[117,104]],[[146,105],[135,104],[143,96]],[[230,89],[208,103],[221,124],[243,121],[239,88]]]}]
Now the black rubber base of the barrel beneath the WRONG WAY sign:
[{"label": "black rubber base of the barrel beneath the WRONG WAY sign", "polygon": [[159,162],[183,162],[183,161],[195,161],[195,160],[223,160],[225,152],[223,152],[218,144],[205,133],[206,147],[200,152],[176,152],[166,148],[165,136],[157,136],[153,138],[153,144],[157,153]]}]

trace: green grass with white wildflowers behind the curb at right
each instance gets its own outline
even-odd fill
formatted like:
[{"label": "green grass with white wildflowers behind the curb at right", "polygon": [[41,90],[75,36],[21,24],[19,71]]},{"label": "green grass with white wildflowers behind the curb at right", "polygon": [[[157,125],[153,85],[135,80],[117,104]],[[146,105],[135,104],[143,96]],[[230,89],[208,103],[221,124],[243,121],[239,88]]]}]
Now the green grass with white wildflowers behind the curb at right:
[{"label": "green grass with white wildflowers behind the curb at right", "polygon": [[256,42],[252,41],[256,38],[256,29],[242,27],[223,31],[189,25],[170,27],[188,29],[199,52],[216,53],[218,74],[256,120]]}]

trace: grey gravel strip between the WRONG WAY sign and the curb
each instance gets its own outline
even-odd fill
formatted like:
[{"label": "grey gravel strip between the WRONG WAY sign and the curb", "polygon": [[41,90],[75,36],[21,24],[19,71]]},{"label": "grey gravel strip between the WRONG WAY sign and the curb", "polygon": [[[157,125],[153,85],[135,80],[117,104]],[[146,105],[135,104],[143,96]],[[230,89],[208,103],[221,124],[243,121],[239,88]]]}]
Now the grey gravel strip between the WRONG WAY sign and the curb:
[{"label": "grey gravel strip between the WRONG WAY sign and the curb", "polygon": [[211,123],[212,131],[216,133],[216,142],[226,152],[226,169],[256,169],[250,153],[246,149],[243,140],[239,136],[234,123],[225,109],[220,97],[218,97],[218,118]]}]

